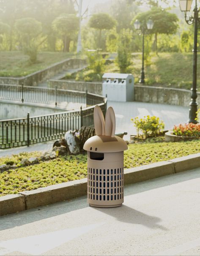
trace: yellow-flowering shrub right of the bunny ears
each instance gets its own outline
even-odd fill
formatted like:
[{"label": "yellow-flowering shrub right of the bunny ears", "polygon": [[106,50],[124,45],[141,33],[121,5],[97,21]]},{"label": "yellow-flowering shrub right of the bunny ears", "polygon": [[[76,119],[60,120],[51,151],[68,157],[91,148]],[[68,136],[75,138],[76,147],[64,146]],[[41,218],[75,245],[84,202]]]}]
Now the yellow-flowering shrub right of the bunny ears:
[{"label": "yellow-flowering shrub right of the bunny ears", "polygon": [[131,121],[134,123],[134,126],[137,128],[138,137],[140,136],[140,132],[145,138],[148,138],[149,135],[155,137],[159,135],[160,132],[164,129],[164,122],[160,120],[159,117],[156,116],[144,116],[144,118],[132,118]]}]

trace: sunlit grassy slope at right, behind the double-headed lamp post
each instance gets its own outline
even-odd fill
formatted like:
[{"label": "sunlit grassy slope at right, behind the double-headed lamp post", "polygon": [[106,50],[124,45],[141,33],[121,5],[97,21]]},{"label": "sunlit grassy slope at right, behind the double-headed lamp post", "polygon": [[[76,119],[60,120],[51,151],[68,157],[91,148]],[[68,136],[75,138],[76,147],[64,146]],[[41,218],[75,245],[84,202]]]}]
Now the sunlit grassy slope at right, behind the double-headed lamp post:
[{"label": "sunlit grassy slope at right, behind the double-headed lamp post", "polygon": [[[132,56],[132,74],[135,83],[140,79],[141,53]],[[148,65],[145,65],[145,84],[190,89],[192,86],[192,53],[159,53],[152,55]],[[200,54],[198,54],[198,67],[200,67]],[[200,72],[197,69],[197,87],[200,88]],[[84,71],[80,71],[81,74]],[[87,71],[85,71],[87,72]],[[105,72],[120,72],[113,62],[106,65]],[[73,76],[72,78],[75,78]],[[70,78],[68,78],[70,79]]]}]

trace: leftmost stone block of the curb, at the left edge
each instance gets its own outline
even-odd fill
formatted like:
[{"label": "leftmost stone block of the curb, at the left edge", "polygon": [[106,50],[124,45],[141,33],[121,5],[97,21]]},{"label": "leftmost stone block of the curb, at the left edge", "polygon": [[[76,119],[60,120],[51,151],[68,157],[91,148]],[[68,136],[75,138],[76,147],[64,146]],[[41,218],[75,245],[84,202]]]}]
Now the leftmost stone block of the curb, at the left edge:
[{"label": "leftmost stone block of the curb, at the left edge", "polygon": [[25,197],[20,194],[10,194],[0,197],[0,216],[26,209]]}]

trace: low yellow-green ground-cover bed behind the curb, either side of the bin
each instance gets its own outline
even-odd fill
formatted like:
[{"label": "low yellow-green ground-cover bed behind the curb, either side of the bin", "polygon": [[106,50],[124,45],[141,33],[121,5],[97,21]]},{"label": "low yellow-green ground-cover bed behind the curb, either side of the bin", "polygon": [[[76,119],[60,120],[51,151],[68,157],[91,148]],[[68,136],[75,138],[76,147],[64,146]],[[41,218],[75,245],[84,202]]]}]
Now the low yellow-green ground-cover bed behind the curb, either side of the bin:
[{"label": "low yellow-green ground-cover bed behind the curb, either side of the bin", "polygon": [[[131,168],[200,152],[200,140],[188,142],[159,142],[130,144],[124,154],[124,167]],[[0,164],[13,161],[17,166],[22,158],[41,153],[24,153],[0,159]],[[87,176],[87,155],[69,155],[31,166],[10,169],[0,174],[0,195],[41,188]]]}]

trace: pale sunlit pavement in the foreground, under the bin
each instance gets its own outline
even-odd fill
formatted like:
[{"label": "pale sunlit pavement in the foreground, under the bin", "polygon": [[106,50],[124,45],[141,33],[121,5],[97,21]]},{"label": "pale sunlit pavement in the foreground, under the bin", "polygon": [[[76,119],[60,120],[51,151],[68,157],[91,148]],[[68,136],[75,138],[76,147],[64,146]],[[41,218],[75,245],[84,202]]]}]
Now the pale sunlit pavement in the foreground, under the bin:
[{"label": "pale sunlit pavement in the foreground, under the bin", "polygon": [[86,197],[1,218],[1,255],[200,255],[200,169],[125,187],[122,207]]}]

